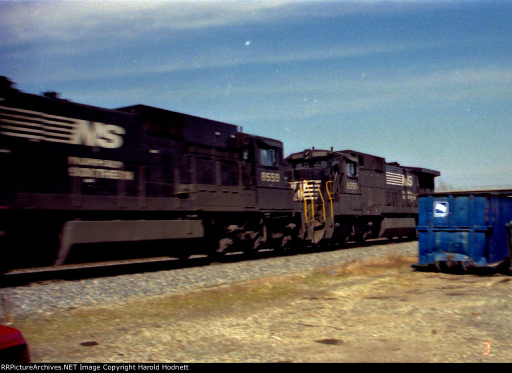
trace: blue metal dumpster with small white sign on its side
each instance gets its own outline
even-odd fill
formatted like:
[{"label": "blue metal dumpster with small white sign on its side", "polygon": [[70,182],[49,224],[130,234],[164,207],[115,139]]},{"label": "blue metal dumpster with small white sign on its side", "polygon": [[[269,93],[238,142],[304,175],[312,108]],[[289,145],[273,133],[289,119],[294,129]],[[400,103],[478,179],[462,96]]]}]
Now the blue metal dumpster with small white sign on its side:
[{"label": "blue metal dumpster with small white sign on its side", "polygon": [[418,264],[496,268],[509,258],[512,198],[482,193],[433,193],[418,200]]}]

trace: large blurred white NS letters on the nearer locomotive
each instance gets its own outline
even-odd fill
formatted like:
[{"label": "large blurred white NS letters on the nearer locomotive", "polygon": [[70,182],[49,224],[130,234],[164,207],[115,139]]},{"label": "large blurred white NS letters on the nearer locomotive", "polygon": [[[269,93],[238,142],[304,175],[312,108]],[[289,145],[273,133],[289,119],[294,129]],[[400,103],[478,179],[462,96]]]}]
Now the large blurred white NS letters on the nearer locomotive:
[{"label": "large blurred white NS letters on the nearer locomotive", "polygon": [[126,134],[123,127],[86,120],[78,120],[75,123],[75,131],[70,139],[73,144],[109,149],[119,148],[123,145],[122,135]]}]

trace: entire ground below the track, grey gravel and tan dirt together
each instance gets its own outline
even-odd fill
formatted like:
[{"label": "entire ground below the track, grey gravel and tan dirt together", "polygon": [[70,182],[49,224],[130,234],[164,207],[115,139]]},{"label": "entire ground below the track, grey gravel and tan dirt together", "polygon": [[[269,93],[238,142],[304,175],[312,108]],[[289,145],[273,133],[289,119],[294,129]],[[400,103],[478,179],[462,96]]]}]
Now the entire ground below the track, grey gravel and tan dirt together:
[{"label": "entire ground below the track, grey gravel and tan dirt together", "polygon": [[4,309],[33,362],[510,362],[510,275],[415,271],[416,250],[33,284]]}]

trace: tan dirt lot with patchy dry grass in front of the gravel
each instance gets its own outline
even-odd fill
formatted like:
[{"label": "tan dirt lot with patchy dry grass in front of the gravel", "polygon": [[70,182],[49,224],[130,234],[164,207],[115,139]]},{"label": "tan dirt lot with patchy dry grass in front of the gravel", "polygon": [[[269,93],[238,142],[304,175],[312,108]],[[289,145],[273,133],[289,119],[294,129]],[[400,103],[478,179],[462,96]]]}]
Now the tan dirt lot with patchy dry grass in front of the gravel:
[{"label": "tan dirt lot with patchy dry grass in front of the gravel", "polygon": [[512,277],[415,258],[24,320],[33,362],[510,362]]}]

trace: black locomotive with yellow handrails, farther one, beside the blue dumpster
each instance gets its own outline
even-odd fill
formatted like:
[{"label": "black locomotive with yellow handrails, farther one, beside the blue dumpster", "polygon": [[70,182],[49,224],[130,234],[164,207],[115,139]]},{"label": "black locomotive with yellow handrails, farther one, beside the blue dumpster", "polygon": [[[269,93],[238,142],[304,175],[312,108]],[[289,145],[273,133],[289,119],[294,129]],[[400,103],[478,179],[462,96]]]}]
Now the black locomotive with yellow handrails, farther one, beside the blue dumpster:
[{"label": "black locomotive with yellow handrails, farther one, beside the blue dumpster", "polygon": [[434,190],[439,171],[400,167],[354,150],[307,149],[286,159],[302,238],[346,243],[416,236],[418,193]]}]

